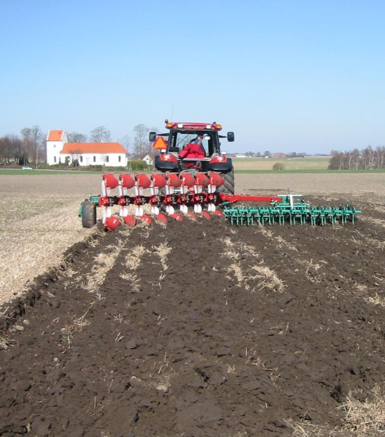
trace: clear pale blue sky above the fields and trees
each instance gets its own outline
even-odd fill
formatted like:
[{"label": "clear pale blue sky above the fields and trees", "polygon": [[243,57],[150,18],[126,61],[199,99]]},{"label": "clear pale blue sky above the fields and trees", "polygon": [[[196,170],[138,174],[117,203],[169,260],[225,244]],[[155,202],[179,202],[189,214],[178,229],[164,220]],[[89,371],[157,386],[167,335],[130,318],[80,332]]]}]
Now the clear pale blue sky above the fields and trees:
[{"label": "clear pale blue sky above the fields and trees", "polygon": [[229,151],[385,144],[383,0],[2,0],[0,13],[0,135],[104,125],[119,140],[174,107],[174,121],[234,130]]}]

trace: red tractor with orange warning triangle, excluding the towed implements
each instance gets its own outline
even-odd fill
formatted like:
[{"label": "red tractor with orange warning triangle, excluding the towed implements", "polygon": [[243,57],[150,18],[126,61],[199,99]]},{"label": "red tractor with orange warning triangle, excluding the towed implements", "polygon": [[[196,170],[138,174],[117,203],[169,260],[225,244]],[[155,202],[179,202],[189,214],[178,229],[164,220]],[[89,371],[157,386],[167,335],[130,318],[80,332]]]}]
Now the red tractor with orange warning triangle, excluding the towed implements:
[{"label": "red tractor with orange warning triangle, excluding the towed implements", "polygon": [[[198,172],[217,172],[224,179],[224,184],[217,188],[218,192],[234,194],[234,168],[231,158],[225,151],[220,151],[220,139],[234,141],[234,132],[227,136],[219,135],[222,126],[218,123],[174,123],[165,120],[169,132],[150,132],[149,140],[154,149],[160,151],[155,156],[155,167],[158,171],[181,172],[194,170]],[[198,137],[202,142],[198,144]],[[187,150],[201,147],[202,154],[188,154]]]}]

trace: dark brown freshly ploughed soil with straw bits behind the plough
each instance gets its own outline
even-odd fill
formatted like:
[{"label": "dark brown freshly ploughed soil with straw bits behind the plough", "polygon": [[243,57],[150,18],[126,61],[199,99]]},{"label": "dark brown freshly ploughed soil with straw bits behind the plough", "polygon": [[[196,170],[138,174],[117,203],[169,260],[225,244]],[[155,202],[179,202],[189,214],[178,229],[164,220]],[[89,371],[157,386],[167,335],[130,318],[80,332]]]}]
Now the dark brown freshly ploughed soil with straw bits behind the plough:
[{"label": "dark brown freshly ploughed soil with straw bits behind the plough", "polygon": [[340,429],[346,396],[383,383],[385,211],[369,203],[355,226],[214,217],[76,244],[3,307],[0,435]]}]

